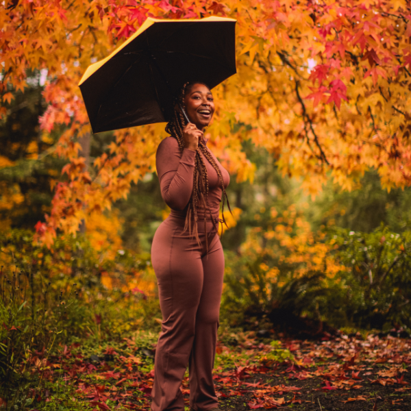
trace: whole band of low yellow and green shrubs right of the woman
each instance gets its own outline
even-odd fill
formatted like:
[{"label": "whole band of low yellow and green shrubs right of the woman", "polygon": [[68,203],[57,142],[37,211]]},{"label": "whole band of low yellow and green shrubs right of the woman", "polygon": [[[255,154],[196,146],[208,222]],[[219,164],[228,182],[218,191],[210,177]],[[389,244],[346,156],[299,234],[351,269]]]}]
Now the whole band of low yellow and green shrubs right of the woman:
[{"label": "whole band of low yellow and green shrubs right of the woman", "polygon": [[335,327],[411,328],[409,230],[315,234],[292,208],[273,216],[273,229],[251,230],[242,255],[227,256],[223,313],[235,313],[235,324],[298,327],[307,316]]}]

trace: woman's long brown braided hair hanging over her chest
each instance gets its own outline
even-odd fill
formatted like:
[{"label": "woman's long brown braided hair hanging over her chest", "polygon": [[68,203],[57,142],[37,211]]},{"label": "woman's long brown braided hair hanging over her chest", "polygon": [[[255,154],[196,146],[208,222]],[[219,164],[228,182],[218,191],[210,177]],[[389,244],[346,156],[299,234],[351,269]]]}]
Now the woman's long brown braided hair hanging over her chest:
[{"label": "woman's long brown braided hair hanging over her chest", "polygon": [[[181,110],[179,110],[179,105],[186,110],[186,105],[184,103],[184,97],[186,97],[186,94],[190,92],[192,87],[195,84],[203,84],[207,88],[207,84],[204,84],[202,82],[188,82],[184,84],[182,89],[179,92],[179,96],[177,97],[177,101],[174,105],[174,112],[173,112],[173,117],[167,123],[166,125],[166,132],[171,134],[174,138],[176,138],[179,148],[183,151],[184,149],[184,136],[183,136],[183,129],[187,125],[187,121],[184,118]],[[210,89],[210,88],[209,88]],[[220,183],[221,183],[221,188],[223,190],[223,206],[222,206],[222,214],[223,214],[223,219],[220,221],[217,219],[217,221],[214,221],[212,218],[211,210],[210,210],[210,204],[208,203],[208,191],[209,191],[209,186],[208,186],[208,175],[207,175],[207,168],[206,164],[204,163],[204,160],[201,156],[201,153],[203,153],[204,157],[210,162],[210,164],[214,167],[214,170],[216,171],[217,175],[219,176]],[[206,216],[209,213],[212,223],[214,225],[214,229],[218,232],[218,228],[216,227],[216,223],[223,223],[227,226],[227,223],[225,222],[224,218],[224,203],[225,200],[227,200],[227,206],[229,211],[231,212],[231,208],[229,207],[229,202],[228,202],[228,197],[227,193],[225,192],[225,186],[224,186],[224,180],[223,180],[223,175],[221,174],[220,167],[218,164],[215,162],[214,158],[212,157],[210,151],[206,147],[205,142],[203,140],[199,140],[199,145],[197,148],[197,151],[195,153],[195,165],[194,165],[194,175],[193,175],[193,187],[192,187],[192,193],[190,197],[190,201],[188,202],[188,208],[187,208],[187,215],[186,215],[186,223],[184,225],[184,230],[188,229],[188,232],[192,233],[197,242],[200,244],[199,240],[199,234],[198,234],[198,229],[197,229],[197,222],[198,222],[198,216],[197,216],[197,210],[199,208],[199,204],[203,204],[204,208],[204,232],[206,233],[206,246],[208,248],[208,235],[207,235],[207,219]],[[221,230],[223,232],[223,230]]]}]

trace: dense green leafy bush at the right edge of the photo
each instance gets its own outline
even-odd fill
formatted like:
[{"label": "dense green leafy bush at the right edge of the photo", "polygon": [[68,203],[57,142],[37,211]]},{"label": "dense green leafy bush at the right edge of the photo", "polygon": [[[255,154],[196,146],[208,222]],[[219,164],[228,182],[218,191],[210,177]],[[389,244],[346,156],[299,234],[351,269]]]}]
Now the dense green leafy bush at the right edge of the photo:
[{"label": "dense green leafy bush at the right edge of the photo", "polygon": [[411,232],[369,234],[335,228],[347,320],[362,328],[411,327]]}]

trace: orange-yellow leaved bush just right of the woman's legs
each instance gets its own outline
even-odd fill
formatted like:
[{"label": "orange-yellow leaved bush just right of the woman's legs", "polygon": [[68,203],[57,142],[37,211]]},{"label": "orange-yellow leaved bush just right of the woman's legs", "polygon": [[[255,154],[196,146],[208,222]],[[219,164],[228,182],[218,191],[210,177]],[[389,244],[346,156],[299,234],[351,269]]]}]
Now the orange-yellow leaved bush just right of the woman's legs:
[{"label": "orange-yellow leaved bush just right of the woman's legs", "polygon": [[308,314],[323,319],[329,295],[338,294],[338,273],[345,266],[325,230],[312,232],[303,210],[271,208],[256,215],[240,256],[226,259],[223,310],[238,308],[237,321],[261,319],[273,312]]}]

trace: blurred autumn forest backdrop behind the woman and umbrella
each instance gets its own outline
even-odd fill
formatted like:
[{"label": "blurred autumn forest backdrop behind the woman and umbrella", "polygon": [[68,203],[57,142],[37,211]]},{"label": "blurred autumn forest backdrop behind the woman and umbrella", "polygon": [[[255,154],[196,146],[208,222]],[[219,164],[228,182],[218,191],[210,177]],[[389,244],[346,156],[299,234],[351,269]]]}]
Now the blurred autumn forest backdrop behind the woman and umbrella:
[{"label": "blurred autumn forest backdrop behind the woman and umbrella", "polygon": [[147,16],[210,15],[238,21],[238,74],[213,90],[207,129],[232,175],[221,332],[409,332],[406,1],[12,0],[0,5],[10,369],[12,327],[37,350],[160,329],[150,247],[169,213],[155,174],[164,124],[93,135],[77,84]]}]

